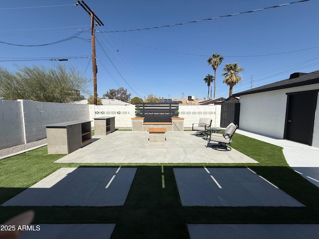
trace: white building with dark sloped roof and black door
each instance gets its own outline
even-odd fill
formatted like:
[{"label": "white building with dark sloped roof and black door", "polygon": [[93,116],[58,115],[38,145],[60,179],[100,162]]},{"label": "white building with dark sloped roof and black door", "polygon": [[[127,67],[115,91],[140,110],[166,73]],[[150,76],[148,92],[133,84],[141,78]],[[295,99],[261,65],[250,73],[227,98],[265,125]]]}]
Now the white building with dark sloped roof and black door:
[{"label": "white building with dark sloped roof and black door", "polygon": [[319,71],[315,71],[236,93],[240,128],[319,147],[318,92]]}]

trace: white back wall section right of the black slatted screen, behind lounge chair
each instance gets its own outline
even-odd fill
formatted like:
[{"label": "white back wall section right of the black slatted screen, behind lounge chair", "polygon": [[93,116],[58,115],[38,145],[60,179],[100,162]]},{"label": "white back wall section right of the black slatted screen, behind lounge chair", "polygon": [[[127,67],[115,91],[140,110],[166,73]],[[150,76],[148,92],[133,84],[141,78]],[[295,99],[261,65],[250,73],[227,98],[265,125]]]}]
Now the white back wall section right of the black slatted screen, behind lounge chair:
[{"label": "white back wall section right of the black slatted screen, behind lounge chair", "polygon": [[178,111],[179,117],[184,118],[184,128],[191,128],[193,123],[198,123],[199,118],[210,118],[213,127],[220,127],[221,105],[179,106]]}]

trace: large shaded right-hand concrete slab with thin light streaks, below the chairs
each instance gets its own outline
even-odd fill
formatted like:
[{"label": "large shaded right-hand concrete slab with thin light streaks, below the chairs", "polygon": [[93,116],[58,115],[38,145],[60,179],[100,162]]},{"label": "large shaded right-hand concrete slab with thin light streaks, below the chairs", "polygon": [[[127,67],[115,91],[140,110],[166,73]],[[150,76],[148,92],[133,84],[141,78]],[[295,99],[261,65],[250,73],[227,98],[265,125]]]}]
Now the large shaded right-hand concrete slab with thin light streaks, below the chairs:
[{"label": "large shaded right-hand concrete slab with thin light streaks, below the chairs", "polygon": [[183,206],[304,207],[248,168],[174,168]]}]

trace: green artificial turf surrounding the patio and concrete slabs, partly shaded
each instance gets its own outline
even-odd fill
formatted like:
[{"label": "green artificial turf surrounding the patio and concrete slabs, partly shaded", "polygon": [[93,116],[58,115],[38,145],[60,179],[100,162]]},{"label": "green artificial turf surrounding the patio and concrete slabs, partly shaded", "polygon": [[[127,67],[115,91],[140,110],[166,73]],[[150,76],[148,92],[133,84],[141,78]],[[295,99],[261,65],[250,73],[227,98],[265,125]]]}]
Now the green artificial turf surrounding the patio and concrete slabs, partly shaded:
[{"label": "green artificial turf surrounding the patio and concrete slabs, partly shaded", "polygon": [[[115,223],[112,239],[188,238],[186,224],[319,223],[319,188],[292,170],[282,148],[235,134],[231,146],[259,164],[126,164],[136,167],[124,206],[0,207],[0,223],[28,209],[33,223]],[[61,167],[120,164],[54,163],[64,155],[48,155],[47,147],[0,160],[0,204]],[[306,207],[182,207],[174,167],[249,167]]]}]

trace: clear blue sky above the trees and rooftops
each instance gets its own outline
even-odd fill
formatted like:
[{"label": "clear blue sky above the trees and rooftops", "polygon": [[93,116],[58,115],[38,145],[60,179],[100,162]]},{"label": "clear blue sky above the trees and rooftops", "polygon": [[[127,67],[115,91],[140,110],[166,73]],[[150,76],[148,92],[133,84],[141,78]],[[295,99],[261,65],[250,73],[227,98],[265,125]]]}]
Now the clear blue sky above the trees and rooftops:
[{"label": "clear blue sky above the trees and rooftops", "polygon": [[[208,57],[224,61],[216,73],[216,97],[228,97],[222,83],[226,63],[244,68],[233,93],[289,78],[294,72],[319,70],[319,1],[260,10],[149,30],[276,6],[294,0],[85,0],[104,23],[96,30],[97,89],[124,87],[132,98],[149,94],[163,98],[207,97],[203,79],[213,75]],[[296,0],[297,1],[297,0]],[[90,17],[75,0],[1,1],[0,41],[20,45],[47,44],[80,32],[58,44],[22,47],[0,43],[0,66],[54,66],[49,59],[74,66],[93,79]],[[122,31],[122,32],[110,32]],[[81,39],[80,39],[81,38]],[[28,61],[21,61],[28,60]],[[252,82],[253,79],[253,82]],[[93,80],[89,85],[93,93]]]}]

